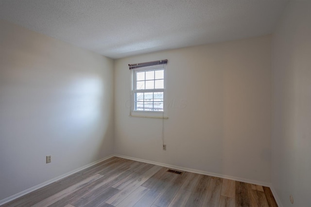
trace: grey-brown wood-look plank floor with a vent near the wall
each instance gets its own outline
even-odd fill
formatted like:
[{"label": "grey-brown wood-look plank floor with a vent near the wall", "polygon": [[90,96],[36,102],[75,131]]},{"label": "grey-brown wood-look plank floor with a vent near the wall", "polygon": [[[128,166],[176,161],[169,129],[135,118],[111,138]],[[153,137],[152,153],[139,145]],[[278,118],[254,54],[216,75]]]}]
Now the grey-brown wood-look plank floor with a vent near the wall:
[{"label": "grey-brown wood-look plank floor with a vent near the wall", "polygon": [[113,157],[2,207],[277,207],[267,187]]}]

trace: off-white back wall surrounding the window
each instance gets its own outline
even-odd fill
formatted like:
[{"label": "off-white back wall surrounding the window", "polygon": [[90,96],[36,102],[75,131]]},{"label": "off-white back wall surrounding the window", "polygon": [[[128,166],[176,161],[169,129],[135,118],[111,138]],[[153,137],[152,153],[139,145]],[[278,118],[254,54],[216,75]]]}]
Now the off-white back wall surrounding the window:
[{"label": "off-white back wall surrounding the window", "polygon": [[[169,119],[129,117],[128,64],[168,59]],[[115,61],[117,154],[270,183],[271,36]]]}]

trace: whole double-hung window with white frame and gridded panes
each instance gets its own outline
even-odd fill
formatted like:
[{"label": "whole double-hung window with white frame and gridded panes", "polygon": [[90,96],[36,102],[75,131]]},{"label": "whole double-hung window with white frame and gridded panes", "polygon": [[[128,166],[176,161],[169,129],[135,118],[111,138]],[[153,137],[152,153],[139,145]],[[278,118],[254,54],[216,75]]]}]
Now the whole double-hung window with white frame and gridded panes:
[{"label": "whole double-hung window with white frame and gridded panes", "polygon": [[165,64],[131,69],[132,116],[164,117],[165,110]]}]

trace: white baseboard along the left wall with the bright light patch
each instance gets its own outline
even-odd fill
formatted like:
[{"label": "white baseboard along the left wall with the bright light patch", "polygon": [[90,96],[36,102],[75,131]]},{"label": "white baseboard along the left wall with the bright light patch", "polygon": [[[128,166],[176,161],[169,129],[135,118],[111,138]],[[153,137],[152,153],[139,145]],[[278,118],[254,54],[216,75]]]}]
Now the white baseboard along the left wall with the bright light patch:
[{"label": "white baseboard along the left wall with the bright light patch", "polygon": [[19,197],[21,197],[21,196],[27,194],[27,193],[30,193],[30,192],[32,192],[32,191],[35,191],[35,190],[37,190],[37,189],[39,189],[39,188],[42,188],[42,187],[44,187],[44,186],[47,186],[47,185],[49,185],[49,184],[51,184],[51,183],[53,183],[53,182],[56,182],[57,180],[63,179],[64,177],[67,177],[67,176],[69,176],[69,175],[72,175],[72,174],[74,174],[74,173],[77,173],[77,172],[79,172],[79,171],[81,171],[81,170],[84,170],[84,169],[86,169],[86,168],[88,168],[88,167],[90,167],[90,166],[93,166],[93,165],[95,165],[95,164],[97,164],[97,163],[99,163],[99,162],[102,162],[102,161],[104,161],[104,160],[106,160],[106,159],[109,159],[109,158],[112,158],[112,157],[114,157],[114,155],[110,155],[110,156],[105,157],[105,158],[103,158],[103,159],[100,159],[100,160],[97,160],[97,161],[95,161],[95,162],[89,163],[89,164],[87,164],[87,165],[85,165],[85,166],[82,166],[82,167],[80,167],[80,168],[77,168],[77,169],[75,169],[75,170],[72,170],[72,171],[70,171],[70,172],[68,172],[68,173],[65,173],[65,174],[63,174],[63,175],[57,176],[57,177],[55,177],[55,178],[52,178],[51,180],[45,181],[45,182],[43,182],[43,183],[40,183],[40,184],[38,184],[38,185],[36,185],[36,186],[34,186],[34,187],[32,187],[32,188],[26,189],[25,191],[21,191],[21,192],[18,192],[18,193],[16,193],[16,194],[14,194],[14,195],[11,195],[11,196],[9,196],[9,197],[7,197],[7,198],[4,198],[4,199],[0,200],[0,206],[3,205],[3,204],[8,203],[8,202],[10,202],[10,201],[13,201],[13,200],[15,200],[15,199],[17,199],[17,198],[19,198]]}]

